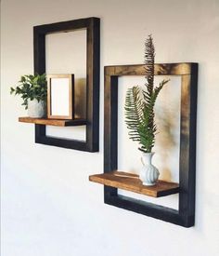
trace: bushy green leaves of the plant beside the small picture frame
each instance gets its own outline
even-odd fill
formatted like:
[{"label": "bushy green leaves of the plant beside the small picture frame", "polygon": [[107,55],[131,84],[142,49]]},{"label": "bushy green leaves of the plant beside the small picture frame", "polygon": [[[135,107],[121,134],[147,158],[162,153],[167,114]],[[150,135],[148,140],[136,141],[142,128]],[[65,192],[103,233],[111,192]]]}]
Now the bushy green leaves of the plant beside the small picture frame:
[{"label": "bushy green leaves of the plant beside the small picture frame", "polygon": [[45,74],[25,74],[20,77],[19,85],[10,88],[10,94],[19,94],[23,100],[22,105],[28,108],[28,100],[46,101],[47,83]]}]

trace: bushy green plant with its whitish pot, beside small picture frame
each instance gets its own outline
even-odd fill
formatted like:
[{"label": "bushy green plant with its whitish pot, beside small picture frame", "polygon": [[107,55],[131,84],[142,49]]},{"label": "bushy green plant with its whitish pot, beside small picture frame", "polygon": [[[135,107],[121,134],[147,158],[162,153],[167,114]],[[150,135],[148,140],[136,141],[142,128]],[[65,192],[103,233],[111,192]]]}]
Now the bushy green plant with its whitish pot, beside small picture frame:
[{"label": "bushy green plant with its whitish pot, beside small picture frame", "polygon": [[32,118],[45,116],[47,83],[45,74],[25,74],[20,77],[19,85],[10,88],[10,94],[20,95],[22,105],[28,109],[28,115]]}]

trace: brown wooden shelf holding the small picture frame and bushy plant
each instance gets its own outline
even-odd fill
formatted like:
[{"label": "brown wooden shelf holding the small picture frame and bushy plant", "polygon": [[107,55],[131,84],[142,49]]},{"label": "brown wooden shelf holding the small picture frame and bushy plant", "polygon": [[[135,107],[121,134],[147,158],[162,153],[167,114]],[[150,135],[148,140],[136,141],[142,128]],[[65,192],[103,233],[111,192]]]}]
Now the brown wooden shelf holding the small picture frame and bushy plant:
[{"label": "brown wooden shelf holding the small picture frame and bushy plant", "polygon": [[87,121],[85,119],[61,120],[32,117],[19,117],[19,122],[56,127],[75,127],[85,126],[87,124]]}]

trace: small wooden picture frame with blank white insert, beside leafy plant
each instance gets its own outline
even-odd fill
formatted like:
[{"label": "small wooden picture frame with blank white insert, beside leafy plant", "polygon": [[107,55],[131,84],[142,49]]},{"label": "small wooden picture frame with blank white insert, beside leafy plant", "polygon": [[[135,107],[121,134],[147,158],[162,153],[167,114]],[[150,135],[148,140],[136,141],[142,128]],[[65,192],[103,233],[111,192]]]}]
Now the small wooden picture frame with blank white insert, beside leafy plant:
[{"label": "small wooden picture frame with blank white insert, beside leafy plant", "polygon": [[47,74],[47,118],[74,118],[74,74]]}]

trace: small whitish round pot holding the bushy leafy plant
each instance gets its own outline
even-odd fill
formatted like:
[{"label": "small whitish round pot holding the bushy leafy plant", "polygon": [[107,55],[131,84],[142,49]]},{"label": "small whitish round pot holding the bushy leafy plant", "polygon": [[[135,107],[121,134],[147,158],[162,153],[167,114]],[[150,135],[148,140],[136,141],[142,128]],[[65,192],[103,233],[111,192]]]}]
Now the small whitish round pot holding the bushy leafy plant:
[{"label": "small whitish round pot holding the bushy leafy plant", "polygon": [[41,118],[45,116],[45,101],[33,99],[28,101],[28,115],[32,118]]}]

